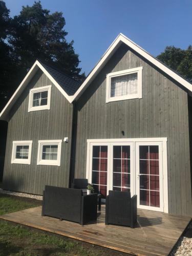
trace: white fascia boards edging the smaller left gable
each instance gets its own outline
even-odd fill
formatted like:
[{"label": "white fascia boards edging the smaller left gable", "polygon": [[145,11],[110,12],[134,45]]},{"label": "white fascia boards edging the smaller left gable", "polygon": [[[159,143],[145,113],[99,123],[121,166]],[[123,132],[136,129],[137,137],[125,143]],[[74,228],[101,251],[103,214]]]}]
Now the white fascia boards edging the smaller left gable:
[{"label": "white fascia boards edging the smaller left gable", "polygon": [[2,112],[0,113],[0,120],[4,120],[4,121],[8,121],[8,117],[7,114],[9,113],[10,109],[12,108],[13,104],[16,102],[16,100],[19,98],[20,94],[22,94],[22,92],[24,91],[24,89],[26,88],[28,82],[31,80],[31,78],[33,77],[33,75],[36,73],[36,71],[39,69],[42,70],[42,72],[45,73],[45,75],[53,82],[54,86],[61,92],[61,94],[66,97],[66,99],[71,103],[71,97],[69,96],[57,83],[57,81],[55,81],[55,79],[49,74],[49,72],[41,65],[41,63],[36,60],[35,63],[33,64],[33,66],[31,67],[31,69],[29,70],[29,72],[27,73],[27,75],[25,76],[25,78],[23,79],[23,81],[19,84],[19,87],[16,89],[16,91],[14,92],[14,94],[12,95],[12,97],[10,98],[10,100],[7,102],[5,108],[2,110]]}]

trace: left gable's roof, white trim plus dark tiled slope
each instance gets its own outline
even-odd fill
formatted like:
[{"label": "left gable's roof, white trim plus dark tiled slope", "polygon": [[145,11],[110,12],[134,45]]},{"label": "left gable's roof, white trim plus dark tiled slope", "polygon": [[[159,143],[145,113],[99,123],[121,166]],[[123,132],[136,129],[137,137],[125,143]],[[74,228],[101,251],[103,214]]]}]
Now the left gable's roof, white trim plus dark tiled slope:
[{"label": "left gable's roof, white trim plus dark tiled slope", "polygon": [[29,70],[23,81],[19,84],[19,87],[14,92],[8,103],[6,104],[5,108],[0,113],[0,120],[7,121],[8,113],[11,110],[12,106],[18,99],[18,97],[22,94],[25,90],[27,84],[32,79],[34,74],[37,70],[40,69],[44,72],[47,77],[52,81],[52,83],[56,86],[56,88],[61,92],[61,94],[66,97],[66,99],[71,103],[72,102],[72,95],[76,92],[79,88],[79,82],[75,81],[74,79],[70,78],[69,76],[57,71],[56,69],[42,63],[39,60],[36,60],[32,68]]}]

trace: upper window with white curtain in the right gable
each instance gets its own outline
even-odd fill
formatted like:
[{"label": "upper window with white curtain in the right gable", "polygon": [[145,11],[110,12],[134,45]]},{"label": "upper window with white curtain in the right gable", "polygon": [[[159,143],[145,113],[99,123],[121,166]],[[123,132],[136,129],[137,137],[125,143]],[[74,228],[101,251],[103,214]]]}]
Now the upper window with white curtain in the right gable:
[{"label": "upper window with white curtain in the right gable", "polygon": [[142,69],[138,67],[106,75],[106,102],[142,98]]}]

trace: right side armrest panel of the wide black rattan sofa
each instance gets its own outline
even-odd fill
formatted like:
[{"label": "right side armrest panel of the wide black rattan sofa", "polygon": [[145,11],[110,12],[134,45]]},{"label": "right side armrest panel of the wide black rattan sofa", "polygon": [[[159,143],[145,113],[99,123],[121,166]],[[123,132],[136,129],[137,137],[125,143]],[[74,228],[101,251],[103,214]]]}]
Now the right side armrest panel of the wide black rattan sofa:
[{"label": "right side armrest panel of the wide black rattan sofa", "polygon": [[97,220],[97,194],[81,197],[80,224],[84,225],[90,221]]}]

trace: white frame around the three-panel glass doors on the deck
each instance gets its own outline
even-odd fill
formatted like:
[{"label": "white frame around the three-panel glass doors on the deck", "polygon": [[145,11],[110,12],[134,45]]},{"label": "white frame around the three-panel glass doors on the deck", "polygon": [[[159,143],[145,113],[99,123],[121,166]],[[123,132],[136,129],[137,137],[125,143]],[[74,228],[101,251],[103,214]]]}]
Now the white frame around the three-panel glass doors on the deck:
[{"label": "white frame around the three-panel glass doors on the deck", "polygon": [[[107,194],[109,190],[113,190],[113,174],[110,170],[113,169],[113,160],[112,160],[112,146],[113,145],[122,145],[130,144],[131,145],[131,165],[132,165],[132,176],[131,176],[131,195],[138,194],[138,173],[139,173],[139,158],[138,158],[138,145],[153,145],[161,143],[159,152],[161,151],[162,157],[160,161],[162,163],[162,176],[160,177],[160,189],[161,189],[161,206],[160,207],[144,207],[138,204],[138,208],[150,209],[156,211],[163,211],[168,213],[168,177],[167,177],[167,138],[127,138],[127,139],[88,139],[87,140],[87,170],[86,178],[89,183],[92,183],[92,152],[93,145],[107,145],[108,146],[108,178],[107,178]],[[160,155],[161,155],[160,154]],[[132,162],[133,161],[133,162]]]}]

